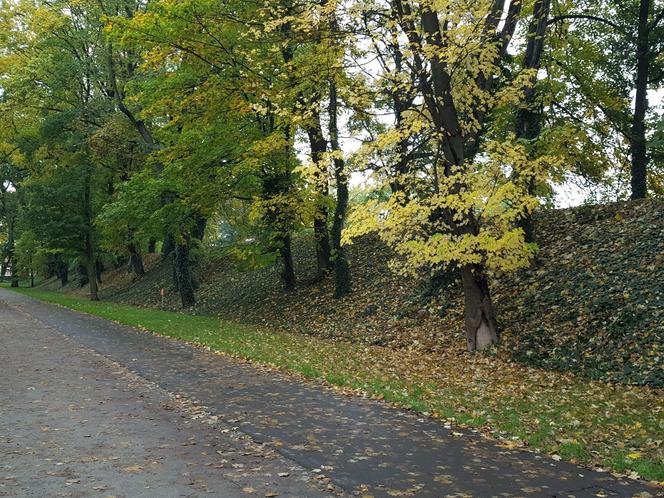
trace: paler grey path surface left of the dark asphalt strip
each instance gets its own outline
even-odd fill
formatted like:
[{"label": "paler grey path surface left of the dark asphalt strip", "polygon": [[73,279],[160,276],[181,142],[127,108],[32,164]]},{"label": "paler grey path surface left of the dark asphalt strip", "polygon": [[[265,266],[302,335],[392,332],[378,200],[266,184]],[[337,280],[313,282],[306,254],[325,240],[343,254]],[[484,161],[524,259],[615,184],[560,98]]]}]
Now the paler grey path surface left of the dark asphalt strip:
[{"label": "paler grey path surface left of the dark asphalt strip", "polygon": [[0,496],[327,496],[317,477],[0,302]]}]

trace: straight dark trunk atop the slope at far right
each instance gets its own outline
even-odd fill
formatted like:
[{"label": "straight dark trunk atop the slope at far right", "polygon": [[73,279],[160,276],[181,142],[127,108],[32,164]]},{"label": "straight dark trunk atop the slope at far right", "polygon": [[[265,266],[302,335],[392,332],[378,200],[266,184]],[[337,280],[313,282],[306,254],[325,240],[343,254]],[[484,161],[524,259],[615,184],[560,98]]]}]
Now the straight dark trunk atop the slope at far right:
[{"label": "straight dark trunk atop the slope at far right", "polygon": [[636,99],[632,117],[632,199],[648,195],[648,151],[646,148],[646,113],[648,112],[648,73],[650,65],[649,27],[650,3],[639,4],[639,26],[636,39]]}]

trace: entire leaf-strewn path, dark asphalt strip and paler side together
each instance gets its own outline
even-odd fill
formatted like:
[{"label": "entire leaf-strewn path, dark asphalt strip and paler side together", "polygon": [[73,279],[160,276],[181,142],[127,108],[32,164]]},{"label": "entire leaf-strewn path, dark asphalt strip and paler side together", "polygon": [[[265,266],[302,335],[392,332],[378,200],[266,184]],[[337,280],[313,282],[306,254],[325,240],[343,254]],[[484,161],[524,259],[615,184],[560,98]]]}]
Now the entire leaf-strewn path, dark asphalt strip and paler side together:
[{"label": "entire leaf-strewn path, dark asphalt strip and paler side together", "polygon": [[[44,346],[57,346],[57,353]],[[0,451],[5,455],[0,460],[0,496],[55,496],[48,486],[56,484],[61,496],[662,496],[661,490],[640,482],[502,448],[479,434],[448,429],[383,403],[343,396],[2,289],[0,361]],[[126,375],[114,373],[109,365],[126,369],[135,385],[127,385]],[[24,377],[35,368],[40,370]],[[40,378],[51,379],[52,387],[40,387]],[[41,402],[31,406],[30,397],[40,393]],[[93,395],[108,399],[98,405]],[[86,405],[81,397],[93,401]],[[174,414],[180,409],[169,410],[168,399],[204,406],[216,425],[191,420],[196,416],[187,417],[186,409],[185,414]],[[44,434],[50,436],[50,431],[43,433],[41,427],[62,425],[57,417],[65,418],[60,413],[64,405],[77,402],[84,406],[81,417],[110,428],[90,438],[83,434],[93,432],[87,422],[72,422],[70,432],[60,431],[49,447]],[[122,414],[131,422],[127,429]],[[83,479],[64,476],[58,481],[44,474],[52,466],[44,463],[45,455],[64,448],[74,474],[92,472],[90,465],[76,461],[91,453],[81,441],[92,439],[107,453],[117,449],[109,454],[121,453],[121,463],[105,462],[106,473],[95,477],[102,483],[107,479],[113,489],[64,494],[80,487]],[[127,439],[129,446],[122,446]],[[184,450],[188,446],[182,441],[193,440],[201,442]],[[230,449],[217,451],[206,444]],[[242,445],[253,449],[242,451]],[[13,452],[9,458],[8,450]],[[163,450],[163,463],[153,456],[158,450]],[[224,451],[247,461],[220,458]],[[62,460],[55,472],[69,465]],[[131,471],[135,461],[142,462],[136,464],[141,471]],[[151,461],[161,466],[150,468]],[[30,468],[30,462],[41,462],[43,468]],[[192,477],[189,463],[200,478]],[[252,465],[260,470],[246,471]],[[26,473],[42,475],[41,481]],[[67,479],[80,482],[67,484]],[[155,491],[159,486],[171,494]],[[31,495],[34,489],[38,492]]]}]

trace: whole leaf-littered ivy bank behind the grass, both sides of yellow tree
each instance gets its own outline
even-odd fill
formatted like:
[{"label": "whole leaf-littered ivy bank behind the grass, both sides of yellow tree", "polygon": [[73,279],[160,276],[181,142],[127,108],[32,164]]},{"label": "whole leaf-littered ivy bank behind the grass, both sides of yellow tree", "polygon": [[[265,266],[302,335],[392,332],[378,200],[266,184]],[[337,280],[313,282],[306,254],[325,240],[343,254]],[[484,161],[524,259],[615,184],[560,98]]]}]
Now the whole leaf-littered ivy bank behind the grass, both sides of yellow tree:
[{"label": "whole leaf-littered ivy bank behind the grass, both sides of yellow tree", "polygon": [[[664,386],[664,203],[639,201],[542,213],[533,268],[492,282],[503,331],[498,354],[592,378]],[[331,279],[315,281],[306,237],[295,251],[299,286],[282,290],[278,271],[239,271],[210,255],[199,270],[195,312],[325,337],[461,355],[462,308],[453,279],[431,292],[395,276],[375,239],[351,247],[353,294],[331,298]],[[154,258],[153,258],[154,259]],[[105,297],[159,305],[168,264],[131,282],[105,276]],[[167,292],[165,305],[177,308]]]}]

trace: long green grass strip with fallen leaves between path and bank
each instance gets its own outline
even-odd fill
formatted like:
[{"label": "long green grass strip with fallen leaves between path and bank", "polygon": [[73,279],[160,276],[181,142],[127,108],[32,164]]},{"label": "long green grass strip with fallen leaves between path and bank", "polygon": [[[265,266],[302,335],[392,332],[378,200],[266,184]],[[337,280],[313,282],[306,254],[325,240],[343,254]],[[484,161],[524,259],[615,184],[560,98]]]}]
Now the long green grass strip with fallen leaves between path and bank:
[{"label": "long green grass strip with fallen leaves between path and bank", "polygon": [[480,428],[507,447],[530,446],[572,462],[664,481],[661,390],[589,381],[489,355],[424,355],[209,316],[18,291]]}]

